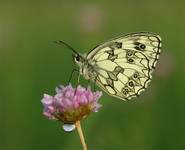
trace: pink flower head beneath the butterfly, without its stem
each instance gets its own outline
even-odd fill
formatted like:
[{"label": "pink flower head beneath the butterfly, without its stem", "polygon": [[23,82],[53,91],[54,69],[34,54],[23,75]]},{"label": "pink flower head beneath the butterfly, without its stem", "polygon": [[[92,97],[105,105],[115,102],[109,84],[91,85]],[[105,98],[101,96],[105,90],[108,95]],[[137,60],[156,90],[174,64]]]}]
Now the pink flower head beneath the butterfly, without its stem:
[{"label": "pink flower head beneath the butterfly, without its stem", "polygon": [[49,119],[57,119],[67,124],[75,123],[101,107],[98,103],[101,95],[99,91],[92,92],[80,85],[77,88],[61,85],[56,88],[55,96],[44,94],[43,114]]}]

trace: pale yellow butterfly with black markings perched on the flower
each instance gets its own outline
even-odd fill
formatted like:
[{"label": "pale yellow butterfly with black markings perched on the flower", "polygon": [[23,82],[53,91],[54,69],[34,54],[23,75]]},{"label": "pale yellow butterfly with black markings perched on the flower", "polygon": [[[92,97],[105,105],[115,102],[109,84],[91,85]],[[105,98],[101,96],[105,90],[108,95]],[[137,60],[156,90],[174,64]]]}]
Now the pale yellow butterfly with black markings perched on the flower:
[{"label": "pale yellow butterfly with black markings perched on the flower", "polygon": [[63,41],[74,53],[79,73],[95,82],[111,96],[129,100],[148,87],[161,53],[161,37],[155,33],[127,34],[80,54]]}]

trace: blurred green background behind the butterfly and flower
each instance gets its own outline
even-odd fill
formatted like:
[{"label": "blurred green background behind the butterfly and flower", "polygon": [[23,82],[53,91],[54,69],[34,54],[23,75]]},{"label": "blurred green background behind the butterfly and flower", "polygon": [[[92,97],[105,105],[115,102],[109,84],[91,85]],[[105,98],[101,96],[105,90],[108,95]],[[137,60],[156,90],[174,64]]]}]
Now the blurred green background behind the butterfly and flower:
[{"label": "blurred green background behind the butterfly and flower", "polygon": [[[0,150],[81,150],[77,132],[42,116],[43,93],[67,84],[75,67],[64,40],[85,53],[124,33],[161,35],[149,88],[82,121],[90,150],[185,149],[185,1],[0,1]],[[84,82],[84,81],[83,81]],[[85,83],[85,82],[84,82]]]}]

